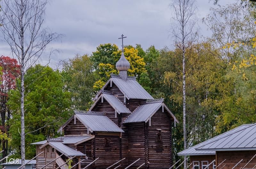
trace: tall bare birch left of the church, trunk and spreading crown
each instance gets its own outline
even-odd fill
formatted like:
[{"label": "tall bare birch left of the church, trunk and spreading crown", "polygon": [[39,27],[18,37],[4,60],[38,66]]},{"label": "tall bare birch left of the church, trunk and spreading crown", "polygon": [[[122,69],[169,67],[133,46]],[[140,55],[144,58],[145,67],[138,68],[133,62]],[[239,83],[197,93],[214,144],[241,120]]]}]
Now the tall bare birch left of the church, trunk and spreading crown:
[{"label": "tall bare birch left of the church, trunk and spreading crown", "polygon": [[[47,0],[3,0],[0,19],[3,39],[10,45],[12,56],[20,64],[20,123],[21,123],[21,165],[25,164],[25,120],[24,84],[28,68],[45,54],[46,46],[60,35],[43,28]],[[49,55],[51,55],[50,52]],[[50,56],[49,56],[50,57]],[[19,84],[19,83],[18,83]],[[23,167],[25,168],[25,166]]]}]

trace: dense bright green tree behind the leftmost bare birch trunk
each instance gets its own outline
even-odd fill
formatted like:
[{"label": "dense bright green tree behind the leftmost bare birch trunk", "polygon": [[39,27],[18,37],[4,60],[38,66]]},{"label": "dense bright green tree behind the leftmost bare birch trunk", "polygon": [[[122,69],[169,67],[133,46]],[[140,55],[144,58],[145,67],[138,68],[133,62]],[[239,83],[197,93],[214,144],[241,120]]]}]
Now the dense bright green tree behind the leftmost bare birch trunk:
[{"label": "dense bright green tree behind the leftmost bare birch trunk", "polygon": [[[25,86],[25,149],[27,158],[35,156],[35,147],[30,145],[46,137],[54,137],[58,127],[70,116],[71,96],[63,92],[64,83],[60,72],[50,67],[36,65],[28,69]],[[18,82],[19,85],[20,82]],[[13,157],[20,158],[20,92],[10,92],[8,105],[13,111],[8,123],[12,137]]]}]

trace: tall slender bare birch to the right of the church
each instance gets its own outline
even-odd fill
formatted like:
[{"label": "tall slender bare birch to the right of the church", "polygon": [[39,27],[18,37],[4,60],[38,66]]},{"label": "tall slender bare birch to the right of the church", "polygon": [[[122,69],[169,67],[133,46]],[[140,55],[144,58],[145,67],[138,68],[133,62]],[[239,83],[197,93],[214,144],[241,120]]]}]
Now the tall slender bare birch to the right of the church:
[{"label": "tall slender bare birch to the right of the church", "polygon": [[[196,40],[196,5],[195,0],[173,0],[171,4],[173,11],[172,35],[174,45],[180,50],[182,58],[182,98],[183,98],[183,137],[184,150],[187,149],[187,130],[186,130],[186,52]],[[184,159],[187,157],[185,156]],[[184,163],[184,168],[187,162]]]}]

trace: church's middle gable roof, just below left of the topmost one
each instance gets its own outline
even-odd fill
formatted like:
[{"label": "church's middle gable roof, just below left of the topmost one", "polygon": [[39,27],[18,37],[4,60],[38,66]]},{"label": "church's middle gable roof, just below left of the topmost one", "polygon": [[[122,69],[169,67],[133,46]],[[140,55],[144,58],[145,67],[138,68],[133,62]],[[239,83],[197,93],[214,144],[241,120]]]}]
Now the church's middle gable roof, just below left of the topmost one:
[{"label": "church's middle gable roof, just below left of the topmost one", "polygon": [[120,114],[120,113],[132,113],[126,106],[124,106],[124,104],[117,99],[113,94],[111,93],[106,93],[106,92],[102,92],[100,94],[100,96],[98,97],[98,99],[93,103],[93,105],[91,106],[91,108],[89,109],[89,111],[91,111],[93,109],[93,107],[97,104],[97,102],[99,100],[101,100],[101,97],[103,97],[104,99],[107,100],[107,102],[110,104],[110,106],[112,106],[115,111]]}]

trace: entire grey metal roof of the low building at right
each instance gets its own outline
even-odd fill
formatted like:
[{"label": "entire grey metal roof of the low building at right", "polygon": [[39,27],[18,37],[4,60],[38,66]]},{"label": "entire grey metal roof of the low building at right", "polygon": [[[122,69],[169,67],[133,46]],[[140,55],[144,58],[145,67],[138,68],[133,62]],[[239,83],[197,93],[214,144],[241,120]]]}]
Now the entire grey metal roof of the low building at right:
[{"label": "entire grey metal roof of the low building at right", "polygon": [[181,151],[178,155],[211,155],[215,154],[215,151],[256,150],[255,132],[256,123],[245,124]]}]

